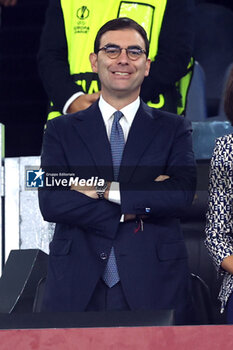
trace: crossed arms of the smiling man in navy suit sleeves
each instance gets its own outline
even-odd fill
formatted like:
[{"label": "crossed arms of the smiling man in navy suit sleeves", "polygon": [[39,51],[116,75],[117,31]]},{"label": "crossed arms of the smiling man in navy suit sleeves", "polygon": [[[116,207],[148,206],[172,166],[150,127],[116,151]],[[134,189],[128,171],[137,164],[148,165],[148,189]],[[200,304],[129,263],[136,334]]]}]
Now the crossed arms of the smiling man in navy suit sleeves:
[{"label": "crossed arms of the smiling man in navy suit sleeves", "polygon": [[[66,121],[69,120],[70,118],[59,118],[48,123],[43,141],[41,163],[43,169],[46,170],[46,167],[51,168],[51,165],[56,164],[56,167],[70,172],[69,163],[72,164],[72,159],[75,158],[69,157],[68,149],[64,150],[68,135],[68,129],[65,129]],[[59,124],[60,127],[57,128]],[[147,183],[120,183],[121,205],[110,202],[108,192],[105,194],[106,200],[97,200],[96,191],[89,186],[88,188],[73,186],[71,190],[63,191],[54,188],[41,189],[39,199],[44,219],[77,225],[84,229],[90,226],[96,227],[102,230],[101,235],[114,237],[122,214],[143,215],[147,213],[144,209],[150,207],[149,216],[155,218],[179,216],[180,211],[191,204],[193,187],[195,188],[195,164],[190,139],[190,130],[186,128],[185,123],[179,123],[169,153],[166,176],[155,175],[154,181],[149,180]],[[187,166],[183,169],[178,167],[179,164]]]}]

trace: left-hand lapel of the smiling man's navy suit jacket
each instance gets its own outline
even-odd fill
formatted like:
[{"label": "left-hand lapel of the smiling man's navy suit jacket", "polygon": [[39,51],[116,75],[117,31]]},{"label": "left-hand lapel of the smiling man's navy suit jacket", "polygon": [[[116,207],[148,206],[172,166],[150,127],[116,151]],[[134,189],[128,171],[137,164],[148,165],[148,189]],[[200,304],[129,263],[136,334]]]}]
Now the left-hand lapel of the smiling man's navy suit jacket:
[{"label": "left-hand lapel of the smiling man's navy suit jacket", "polygon": [[98,101],[87,110],[79,112],[77,119],[79,122],[75,122],[74,127],[89,149],[99,176],[111,180],[113,178],[111,147]]}]

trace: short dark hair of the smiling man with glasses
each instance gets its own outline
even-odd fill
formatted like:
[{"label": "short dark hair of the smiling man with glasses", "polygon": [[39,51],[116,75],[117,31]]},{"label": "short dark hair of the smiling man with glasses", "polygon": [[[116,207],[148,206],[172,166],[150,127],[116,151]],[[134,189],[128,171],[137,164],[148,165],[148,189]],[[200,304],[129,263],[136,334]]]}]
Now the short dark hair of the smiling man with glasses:
[{"label": "short dark hair of the smiling man with glasses", "polygon": [[111,21],[108,21],[107,23],[105,23],[99,29],[95,38],[94,52],[96,54],[98,53],[98,50],[100,48],[100,39],[104,33],[109,32],[110,30],[122,30],[122,29],[134,29],[141,35],[141,37],[145,42],[146,56],[148,57],[149,41],[148,41],[145,29],[142,26],[140,26],[137,22],[133,21],[128,17],[120,17],[120,18],[112,19]]}]

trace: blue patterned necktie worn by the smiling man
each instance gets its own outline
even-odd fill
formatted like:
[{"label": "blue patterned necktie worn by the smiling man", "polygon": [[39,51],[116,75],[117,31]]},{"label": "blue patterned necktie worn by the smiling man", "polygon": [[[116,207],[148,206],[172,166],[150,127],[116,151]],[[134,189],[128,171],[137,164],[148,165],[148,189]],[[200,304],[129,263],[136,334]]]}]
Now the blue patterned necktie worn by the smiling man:
[{"label": "blue patterned necktie worn by the smiling man", "polygon": [[[112,129],[111,129],[111,135],[110,135],[114,180],[118,179],[119,169],[121,165],[121,158],[122,158],[122,154],[125,146],[124,134],[119,122],[122,116],[123,114],[120,111],[116,111],[114,113],[114,120],[112,123]],[[103,280],[107,284],[107,286],[110,288],[113,287],[120,280],[114,247],[112,247],[111,249],[108,262],[104,270]]]}]

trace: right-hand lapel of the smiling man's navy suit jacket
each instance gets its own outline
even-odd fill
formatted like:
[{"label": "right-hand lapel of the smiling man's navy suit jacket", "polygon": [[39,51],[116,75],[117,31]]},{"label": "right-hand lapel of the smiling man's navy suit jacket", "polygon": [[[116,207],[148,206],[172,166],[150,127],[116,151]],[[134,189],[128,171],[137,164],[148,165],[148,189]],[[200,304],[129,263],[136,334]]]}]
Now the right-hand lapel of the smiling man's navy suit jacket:
[{"label": "right-hand lapel of the smiling man's navy suit jacket", "polygon": [[125,145],[119,173],[120,181],[130,180],[142,154],[158,132],[155,119],[157,116],[152,115],[147,105],[141,102]]}]

